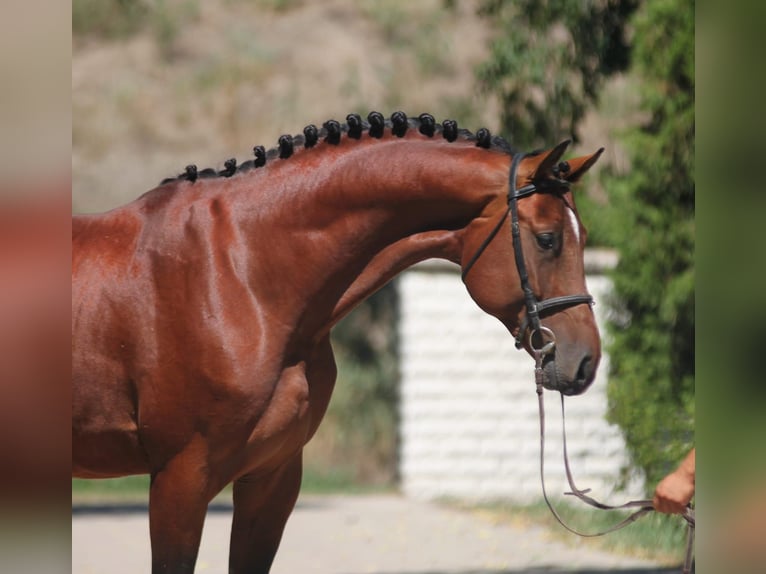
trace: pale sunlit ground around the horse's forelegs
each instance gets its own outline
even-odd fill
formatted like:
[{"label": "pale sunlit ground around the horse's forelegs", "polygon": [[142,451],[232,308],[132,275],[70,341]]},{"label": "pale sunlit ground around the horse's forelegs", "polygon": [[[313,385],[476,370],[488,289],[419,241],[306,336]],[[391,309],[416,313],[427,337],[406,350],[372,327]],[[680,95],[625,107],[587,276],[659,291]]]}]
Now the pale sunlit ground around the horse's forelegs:
[{"label": "pale sunlit ground around the horse's forelegs", "polygon": [[[211,506],[197,572],[226,572],[231,506]],[[150,570],[144,505],[75,507],[72,572]],[[301,497],[273,574],[660,574],[651,562],[565,545],[538,526],[394,494]]]}]

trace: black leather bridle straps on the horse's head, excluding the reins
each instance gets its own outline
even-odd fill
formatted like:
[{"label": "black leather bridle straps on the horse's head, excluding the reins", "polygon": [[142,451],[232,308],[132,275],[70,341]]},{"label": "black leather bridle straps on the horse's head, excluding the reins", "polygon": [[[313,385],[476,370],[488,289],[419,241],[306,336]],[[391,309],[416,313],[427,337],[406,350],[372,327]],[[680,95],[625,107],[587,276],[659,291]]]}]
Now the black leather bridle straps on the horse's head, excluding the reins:
[{"label": "black leather bridle straps on the horse's head, excluding the reins", "polygon": [[[516,187],[516,173],[518,172],[519,164],[521,163],[521,160],[523,160],[525,157],[526,157],[526,154],[521,152],[514,154],[513,159],[511,161],[510,173],[508,175],[508,207],[505,210],[503,217],[500,219],[500,221],[497,222],[497,225],[495,225],[495,227],[492,229],[492,231],[489,233],[486,239],[482,242],[482,244],[476,250],[476,253],[474,253],[473,257],[471,257],[471,259],[468,261],[462,273],[462,278],[465,281],[465,278],[468,275],[468,272],[474,266],[476,261],[478,261],[481,254],[484,253],[484,250],[487,248],[487,246],[489,246],[489,244],[498,234],[498,232],[500,231],[500,228],[502,227],[506,218],[510,214],[511,237],[513,238],[513,254],[514,254],[514,259],[516,260],[516,271],[519,274],[519,281],[521,282],[521,290],[524,293],[524,305],[526,307],[526,314],[519,327],[518,334],[516,335],[517,349],[520,349],[522,347],[523,341],[524,341],[524,334],[527,332],[528,329],[531,329],[530,341],[531,341],[532,335],[534,335],[535,333],[540,333],[543,336],[543,339],[545,339],[546,337],[553,336],[553,333],[549,329],[543,327],[540,323],[540,317],[543,316],[544,314],[555,313],[563,309],[566,309],[568,307],[574,307],[575,305],[581,305],[583,303],[587,303],[588,305],[593,305],[593,297],[591,297],[588,294],[563,295],[560,297],[551,297],[549,299],[544,299],[540,301],[535,295],[535,292],[529,283],[529,273],[527,272],[527,266],[524,261],[524,251],[522,250],[522,246],[521,246],[521,227],[519,225],[518,200],[523,197],[528,197],[530,195],[533,195],[535,193],[544,193],[547,190],[544,189],[545,187],[544,183],[541,183],[540,185],[535,183],[528,183],[522,188]],[[557,188],[561,186],[569,187],[569,182],[565,180],[558,180],[552,183],[554,183]],[[551,347],[550,351],[552,350],[553,349]]]}]

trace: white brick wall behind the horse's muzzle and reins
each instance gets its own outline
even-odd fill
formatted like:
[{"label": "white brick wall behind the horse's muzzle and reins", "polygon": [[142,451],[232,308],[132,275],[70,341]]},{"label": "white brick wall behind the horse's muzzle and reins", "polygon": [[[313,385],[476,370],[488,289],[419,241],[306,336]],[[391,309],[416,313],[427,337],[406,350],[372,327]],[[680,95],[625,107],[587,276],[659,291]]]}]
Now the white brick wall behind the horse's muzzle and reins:
[{"label": "white brick wall behind the horse's muzzle and reins", "polygon": [[[614,256],[586,253],[588,289],[603,325],[609,280],[599,272]],[[397,279],[401,301],[401,485],[418,498],[540,498],[539,419],[534,363],[468,295],[459,268],[428,261]],[[602,334],[604,329],[602,327]],[[566,399],[572,471],[597,498],[615,494],[625,462],[619,429],[605,421],[608,357],[593,386]],[[546,398],[546,483],[566,487],[558,393]],[[642,497],[632,481],[619,497]]]}]

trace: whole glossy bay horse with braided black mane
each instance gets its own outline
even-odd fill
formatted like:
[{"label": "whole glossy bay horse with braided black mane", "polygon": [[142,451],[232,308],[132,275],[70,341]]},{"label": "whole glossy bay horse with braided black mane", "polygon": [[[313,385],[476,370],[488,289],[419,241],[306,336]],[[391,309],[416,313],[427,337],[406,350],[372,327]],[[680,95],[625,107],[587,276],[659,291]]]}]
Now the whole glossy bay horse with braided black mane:
[{"label": "whole glossy bay horse with braided black mane", "polygon": [[[560,162],[567,144],[522,155],[429,114],[350,114],[72,218],[72,475],[151,475],[153,573],[193,572],[232,482],[229,571],[269,571],[333,390],[330,330],[418,261],[460,264],[528,352],[555,333],[548,388],[588,387],[600,339],[590,297],[567,300],[586,293],[569,186],[601,150]],[[530,296],[564,303],[530,326]]]}]

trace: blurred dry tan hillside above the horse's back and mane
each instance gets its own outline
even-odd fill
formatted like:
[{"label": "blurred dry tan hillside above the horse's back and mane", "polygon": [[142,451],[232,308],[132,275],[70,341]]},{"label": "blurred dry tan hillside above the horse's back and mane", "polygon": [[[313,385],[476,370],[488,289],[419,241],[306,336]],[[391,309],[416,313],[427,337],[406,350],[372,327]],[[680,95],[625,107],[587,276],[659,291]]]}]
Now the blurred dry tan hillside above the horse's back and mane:
[{"label": "blurred dry tan hillside above the horse's back and mane", "polygon": [[74,211],[137,197],[187,163],[222,166],[307,123],[428,111],[497,117],[473,69],[489,30],[474,0],[175,0],[139,32],[76,34]]}]

